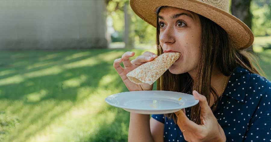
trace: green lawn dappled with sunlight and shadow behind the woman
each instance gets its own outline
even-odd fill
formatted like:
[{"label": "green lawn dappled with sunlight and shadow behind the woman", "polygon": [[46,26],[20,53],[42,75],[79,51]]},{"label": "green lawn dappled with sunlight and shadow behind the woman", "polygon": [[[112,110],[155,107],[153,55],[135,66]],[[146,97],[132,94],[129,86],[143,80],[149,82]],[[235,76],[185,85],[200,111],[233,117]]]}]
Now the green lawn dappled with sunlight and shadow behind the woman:
[{"label": "green lawn dappled with sunlight and shadow behind the woman", "polygon": [[[127,141],[129,112],[104,101],[128,91],[113,68],[126,51],[1,51],[0,141]],[[257,54],[270,79],[271,50]]]}]

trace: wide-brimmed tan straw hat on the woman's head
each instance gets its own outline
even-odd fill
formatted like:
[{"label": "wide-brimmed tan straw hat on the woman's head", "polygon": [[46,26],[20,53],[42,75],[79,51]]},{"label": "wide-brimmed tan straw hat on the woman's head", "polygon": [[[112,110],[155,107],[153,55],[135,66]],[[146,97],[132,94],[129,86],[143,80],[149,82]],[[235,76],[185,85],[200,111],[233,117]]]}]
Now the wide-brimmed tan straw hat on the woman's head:
[{"label": "wide-brimmed tan straw hat on the woman's head", "polygon": [[156,10],[170,6],[193,11],[220,25],[238,49],[250,47],[254,35],[241,20],[229,14],[229,0],[130,0],[132,10],[144,21],[156,27]]}]

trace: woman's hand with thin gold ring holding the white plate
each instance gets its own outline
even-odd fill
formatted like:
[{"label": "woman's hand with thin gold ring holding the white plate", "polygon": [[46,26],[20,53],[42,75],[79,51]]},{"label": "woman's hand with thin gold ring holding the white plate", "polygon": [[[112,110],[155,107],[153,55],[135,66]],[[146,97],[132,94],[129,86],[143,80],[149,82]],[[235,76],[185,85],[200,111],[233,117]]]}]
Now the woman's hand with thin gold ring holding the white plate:
[{"label": "woman's hand with thin gold ring holding the white plate", "polygon": [[193,91],[194,98],[199,100],[201,107],[201,125],[189,120],[183,110],[174,112],[178,117],[177,124],[181,129],[183,136],[188,142],[225,142],[226,136],[218,124],[206,97]]}]

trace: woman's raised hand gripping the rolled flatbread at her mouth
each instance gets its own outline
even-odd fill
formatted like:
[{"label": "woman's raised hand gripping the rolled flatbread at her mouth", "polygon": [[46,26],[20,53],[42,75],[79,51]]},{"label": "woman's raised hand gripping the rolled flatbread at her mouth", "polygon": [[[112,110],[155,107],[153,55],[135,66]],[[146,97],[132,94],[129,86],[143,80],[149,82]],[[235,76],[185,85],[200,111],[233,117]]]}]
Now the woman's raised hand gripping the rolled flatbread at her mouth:
[{"label": "woman's raised hand gripping the rolled flatbread at her mouth", "polygon": [[[138,56],[136,59],[130,61],[129,57],[135,55],[135,52],[125,52],[121,58],[116,59],[114,61],[114,68],[117,70],[124,84],[128,88],[129,91],[140,91],[140,90],[152,90],[153,84],[149,85],[147,83],[144,84],[135,84],[132,83],[126,74],[140,65],[145,64],[146,62],[152,61],[154,58],[157,58],[157,55],[152,52],[144,52],[142,55]],[[124,68],[120,65],[123,62]]]}]

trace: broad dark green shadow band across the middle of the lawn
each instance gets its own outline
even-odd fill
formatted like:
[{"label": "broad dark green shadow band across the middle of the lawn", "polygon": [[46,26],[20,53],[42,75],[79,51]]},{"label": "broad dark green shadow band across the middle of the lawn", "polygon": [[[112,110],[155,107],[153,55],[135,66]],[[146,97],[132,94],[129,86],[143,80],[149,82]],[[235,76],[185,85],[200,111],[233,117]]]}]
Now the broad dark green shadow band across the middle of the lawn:
[{"label": "broad dark green shadow band across the middle of the lawn", "polygon": [[[109,64],[102,62],[101,64],[94,65],[92,67],[81,67],[65,70],[60,74],[46,75],[42,77],[34,77],[24,80],[19,84],[8,84],[0,86],[2,90],[2,95],[0,99],[11,99],[11,100],[24,100],[25,103],[38,103],[45,99],[58,99],[58,100],[70,100],[76,101],[77,88],[80,86],[91,86],[98,87],[97,81],[98,77],[101,77],[109,72]],[[98,68],[102,68],[98,69]],[[88,73],[90,72],[91,73]],[[65,77],[65,74],[72,74],[70,77]],[[80,82],[76,87],[73,86],[63,86],[65,80],[71,78],[76,78],[80,75],[85,75],[84,81]],[[80,79],[79,79],[80,80]],[[32,85],[28,85],[27,82],[33,82]],[[65,87],[65,88],[64,88]],[[37,98],[38,101],[29,100],[26,95],[31,93],[37,93],[39,96],[39,90],[46,90],[46,95]]]}]

